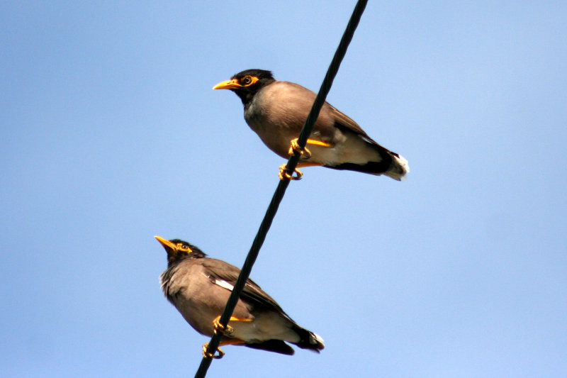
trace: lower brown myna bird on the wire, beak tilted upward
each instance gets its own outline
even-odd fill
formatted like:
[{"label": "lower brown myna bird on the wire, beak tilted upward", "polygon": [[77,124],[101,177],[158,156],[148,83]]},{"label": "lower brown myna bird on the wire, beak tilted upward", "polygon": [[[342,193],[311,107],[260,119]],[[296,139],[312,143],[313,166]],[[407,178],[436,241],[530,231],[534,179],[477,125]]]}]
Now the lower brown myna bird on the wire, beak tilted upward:
[{"label": "lower brown myna bird on the wire, beak tilted upward", "polygon": [[[159,277],[162,290],[198,333],[212,336],[218,330],[223,334],[219,346],[244,345],[283,355],[293,355],[286,342],[315,352],[325,348],[319,335],[298,326],[252,279],[247,280],[228,326],[223,328],[220,315],[240,269],[206,257],[184,240],[155,238],[167,252],[167,269]],[[205,357],[224,355],[220,349],[220,355],[212,355],[207,347],[208,343],[203,345]]]}]

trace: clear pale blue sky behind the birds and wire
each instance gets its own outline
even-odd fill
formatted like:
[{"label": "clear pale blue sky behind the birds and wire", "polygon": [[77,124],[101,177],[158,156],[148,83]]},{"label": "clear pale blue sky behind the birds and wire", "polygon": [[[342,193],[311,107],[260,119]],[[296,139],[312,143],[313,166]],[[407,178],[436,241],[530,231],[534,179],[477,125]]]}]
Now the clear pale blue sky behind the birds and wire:
[{"label": "clear pale blue sky behind the birds and wire", "polygon": [[[2,376],[193,376],[153,236],[242,265],[283,162],[211,87],[317,90],[353,7],[0,5]],[[566,18],[370,2],[327,100],[412,172],[304,169],[252,278],[326,348],[229,346],[209,377],[567,375]]]}]

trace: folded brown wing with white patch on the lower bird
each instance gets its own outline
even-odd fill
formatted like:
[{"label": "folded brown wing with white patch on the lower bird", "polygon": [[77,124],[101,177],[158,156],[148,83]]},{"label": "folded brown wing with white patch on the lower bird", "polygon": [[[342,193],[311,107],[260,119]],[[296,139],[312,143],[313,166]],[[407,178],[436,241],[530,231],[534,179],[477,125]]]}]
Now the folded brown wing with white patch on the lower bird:
[{"label": "folded brown wing with white patch on the lower bird", "polygon": [[[240,269],[221,260],[207,259],[206,262],[203,262],[203,267],[207,268],[208,276],[214,284],[224,287],[230,291],[232,291],[238,275],[240,274]],[[256,282],[252,281],[252,279],[247,279],[245,287],[242,290],[242,294],[240,294],[240,298],[286,315],[279,304],[277,304],[277,302],[274,301],[274,299],[271,298],[266,291],[262,290]]]}]

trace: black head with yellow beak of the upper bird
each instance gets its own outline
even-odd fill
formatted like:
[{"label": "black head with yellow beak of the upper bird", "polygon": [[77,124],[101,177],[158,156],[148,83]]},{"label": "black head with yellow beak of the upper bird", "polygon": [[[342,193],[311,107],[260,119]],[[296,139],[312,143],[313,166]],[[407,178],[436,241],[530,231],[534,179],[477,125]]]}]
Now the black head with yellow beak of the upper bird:
[{"label": "black head with yellow beak of the upper bird", "polygon": [[230,89],[246,106],[257,91],[275,81],[270,71],[252,69],[238,72],[230,80],[216,84],[213,89]]}]

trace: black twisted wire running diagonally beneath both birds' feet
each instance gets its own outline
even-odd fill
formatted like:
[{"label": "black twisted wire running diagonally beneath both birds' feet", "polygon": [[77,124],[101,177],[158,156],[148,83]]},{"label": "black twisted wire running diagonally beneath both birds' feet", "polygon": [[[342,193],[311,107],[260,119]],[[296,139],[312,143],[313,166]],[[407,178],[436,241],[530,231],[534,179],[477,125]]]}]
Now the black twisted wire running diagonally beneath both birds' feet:
[{"label": "black twisted wire running diagonally beneath both birds' feet", "polygon": [[[315,102],[313,103],[313,107],[305,120],[305,124],[301,129],[301,133],[299,134],[298,138],[298,145],[301,148],[305,148],[305,144],[307,143],[307,139],[313,130],[313,125],[319,116],[319,112],[323,104],[325,104],[325,99],[327,98],[327,94],[332,86],[332,82],[339,71],[339,66],[341,65],[342,58],[347,53],[347,48],[349,47],[349,43],[352,40],[352,36],[354,35],[354,30],[357,29],[359,25],[360,18],[362,13],[364,13],[364,9],[366,8],[367,0],[359,0],[357,5],[354,7],[354,11],[352,12],[352,16],[347,24],[346,30],[344,30],[344,34],[342,35],[341,41],[339,43],[339,47],[335,52],[335,56],[332,58],[331,64],[329,65],[329,69],[327,70],[327,74],[325,75],[325,79],[321,84],[319,89],[319,93],[317,97],[315,97]],[[300,154],[296,152],[292,155],[287,163],[286,172],[288,174],[292,174],[299,162]],[[230,316],[232,316],[232,311],[234,311],[236,304],[238,302],[238,298],[242,293],[242,289],[246,284],[246,281],[252,271],[252,265],[256,261],[258,257],[258,253],[260,248],[262,248],[262,244],[264,244],[264,240],[266,240],[266,234],[271,226],[272,221],[274,221],[274,217],[276,216],[276,212],[278,211],[279,204],[281,203],[281,199],[283,199],[283,194],[286,193],[286,189],[289,185],[289,179],[282,179],[280,180],[276,191],[274,192],[274,196],[271,198],[271,202],[266,210],[266,215],[264,215],[264,219],[260,224],[260,228],[258,229],[258,233],[256,234],[256,238],[254,238],[254,242],[252,243],[252,247],[248,252],[244,265],[242,266],[242,270],[240,271],[240,275],[236,280],[235,286],[232,289],[232,293],[228,298],[228,301],[225,306],[225,310],[223,311],[223,315],[220,316],[220,324],[226,326],[228,321],[230,320]],[[208,352],[215,352],[218,349],[218,344],[220,343],[221,335],[213,335],[210,338],[208,343]],[[210,366],[210,362],[212,362],[212,358],[203,357],[201,360],[201,365],[197,369],[195,374],[195,378],[204,378],[207,374],[208,367]]]}]

